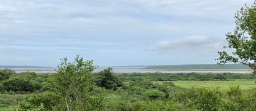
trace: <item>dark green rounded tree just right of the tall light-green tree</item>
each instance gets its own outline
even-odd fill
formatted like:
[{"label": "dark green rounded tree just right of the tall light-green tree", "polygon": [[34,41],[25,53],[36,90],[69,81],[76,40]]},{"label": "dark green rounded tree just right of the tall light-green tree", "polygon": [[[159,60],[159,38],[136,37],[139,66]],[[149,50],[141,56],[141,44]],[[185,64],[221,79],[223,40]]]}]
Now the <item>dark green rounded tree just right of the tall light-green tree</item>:
[{"label": "dark green rounded tree just right of the tall light-green tree", "polygon": [[106,89],[116,90],[117,87],[122,86],[121,80],[112,74],[112,68],[104,69],[97,74],[96,84],[105,87]]}]

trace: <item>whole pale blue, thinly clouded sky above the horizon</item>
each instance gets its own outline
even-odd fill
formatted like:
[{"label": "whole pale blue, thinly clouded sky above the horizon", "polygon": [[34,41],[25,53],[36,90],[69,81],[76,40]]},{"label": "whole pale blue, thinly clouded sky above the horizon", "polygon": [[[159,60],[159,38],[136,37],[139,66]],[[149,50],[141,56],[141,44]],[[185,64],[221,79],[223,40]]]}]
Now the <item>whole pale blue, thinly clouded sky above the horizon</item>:
[{"label": "whole pale blue, thinly clouded sky above the horizon", "polygon": [[0,66],[217,64],[252,0],[1,0]]}]

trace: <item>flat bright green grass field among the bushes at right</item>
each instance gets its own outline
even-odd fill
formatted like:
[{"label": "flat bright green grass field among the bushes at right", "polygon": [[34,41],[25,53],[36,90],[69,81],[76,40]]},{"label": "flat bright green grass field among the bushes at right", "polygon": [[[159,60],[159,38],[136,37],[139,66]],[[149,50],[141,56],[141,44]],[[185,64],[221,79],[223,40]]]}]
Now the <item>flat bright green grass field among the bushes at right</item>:
[{"label": "flat bright green grass field among the bushes at right", "polygon": [[[164,81],[154,81],[153,83],[162,84]],[[242,90],[247,90],[251,88],[256,88],[256,83],[254,80],[231,80],[231,81],[172,81],[174,85],[180,86],[182,88],[191,87],[205,87],[205,88],[220,88],[220,90],[225,90],[229,86],[239,85]]]}]

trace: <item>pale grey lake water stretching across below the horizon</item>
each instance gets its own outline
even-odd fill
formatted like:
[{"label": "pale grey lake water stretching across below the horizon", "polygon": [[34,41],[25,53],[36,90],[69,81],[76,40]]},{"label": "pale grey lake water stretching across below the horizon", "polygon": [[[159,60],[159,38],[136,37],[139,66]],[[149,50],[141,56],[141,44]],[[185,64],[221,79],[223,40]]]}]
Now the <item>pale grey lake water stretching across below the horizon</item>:
[{"label": "pale grey lake water stretching across below the horizon", "polygon": [[[106,69],[108,67],[98,67],[95,69],[94,72],[100,72],[103,71],[103,69]],[[190,73],[190,72],[196,72],[196,73],[224,73],[224,72],[230,72],[230,73],[242,73],[242,74],[250,74],[251,71],[164,71],[164,70],[155,70],[155,69],[145,69],[146,67],[111,67],[113,69],[114,73],[132,73],[132,72],[162,72],[162,73]],[[3,69],[3,68],[0,68]],[[26,71],[33,71],[38,74],[47,74],[47,73],[55,73],[55,69],[57,68],[12,68],[15,72],[26,72]]]}]

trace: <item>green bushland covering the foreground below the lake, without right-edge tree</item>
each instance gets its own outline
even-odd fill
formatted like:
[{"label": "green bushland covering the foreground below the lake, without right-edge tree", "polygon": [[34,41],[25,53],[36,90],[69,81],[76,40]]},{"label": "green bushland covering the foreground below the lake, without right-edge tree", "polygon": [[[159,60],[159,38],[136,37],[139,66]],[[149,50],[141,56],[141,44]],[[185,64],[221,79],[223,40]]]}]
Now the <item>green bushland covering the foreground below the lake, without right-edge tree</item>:
[{"label": "green bushland covering the foreground below the lake, without right-edge tree", "polygon": [[[243,85],[230,85],[225,88],[210,86],[183,87],[177,84],[193,85],[191,81],[158,81],[159,77],[210,78],[214,81],[200,80],[199,84],[215,85],[227,82],[252,83],[250,74],[225,75],[230,81],[212,78],[216,74],[162,74],[133,73],[113,74],[111,68],[92,74],[92,61],[75,58],[73,63],[63,59],[56,74],[35,75],[23,72],[9,75],[1,80],[1,110],[252,110],[256,109],[255,88]],[[82,64],[82,65],[81,65]],[[13,71],[12,71],[13,72]],[[249,77],[249,79],[247,79]],[[18,79],[17,79],[18,78]],[[84,79],[81,79],[84,78]],[[119,79],[120,78],[120,79]],[[148,79],[147,79],[148,78]],[[231,78],[242,78],[234,80]],[[8,90],[6,83],[22,80],[33,90]],[[103,80],[105,79],[105,80]],[[158,80],[157,79],[157,80]],[[246,79],[246,80],[245,80]],[[17,86],[20,85],[18,82]],[[102,83],[102,84],[98,84]],[[110,83],[110,84],[108,84]],[[111,85],[111,83],[116,83]],[[219,83],[219,84],[218,84]],[[79,85],[78,85],[79,84]],[[98,84],[98,85],[97,85]],[[106,84],[106,85],[105,85]],[[118,85],[119,84],[119,85]],[[83,86],[86,85],[86,86]],[[100,86],[102,85],[102,86]],[[106,87],[105,87],[106,86]],[[114,87],[108,87],[114,86]],[[208,88],[207,88],[208,87]],[[18,88],[18,87],[15,87]],[[12,89],[15,89],[12,88]],[[61,89],[62,88],[62,89]],[[75,89],[76,88],[76,89]],[[22,89],[22,88],[18,88]],[[246,90],[245,90],[246,89]],[[243,93],[242,93],[243,92]],[[86,99],[84,99],[86,98]],[[81,103],[82,102],[82,103]],[[68,105],[66,105],[68,104]]]}]

